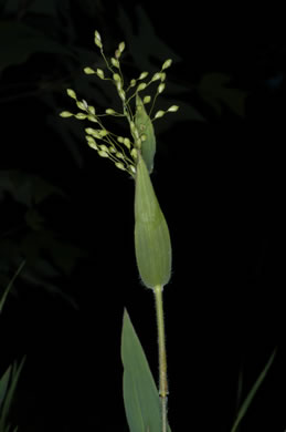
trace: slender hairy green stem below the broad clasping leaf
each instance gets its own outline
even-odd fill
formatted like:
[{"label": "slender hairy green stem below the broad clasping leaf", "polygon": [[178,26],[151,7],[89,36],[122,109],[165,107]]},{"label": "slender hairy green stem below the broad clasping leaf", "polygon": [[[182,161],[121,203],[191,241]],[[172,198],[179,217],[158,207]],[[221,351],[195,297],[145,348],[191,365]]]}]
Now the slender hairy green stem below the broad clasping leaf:
[{"label": "slender hairy green stem below the broad clasping leaf", "polygon": [[162,304],[162,286],[157,285],[153,288],[156,301],[156,315],[158,326],[158,348],[159,348],[159,395],[161,399],[162,414],[162,432],[167,432],[167,398],[168,398],[168,380],[167,380],[167,354],[166,354],[166,338],[163,322],[163,304]]}]

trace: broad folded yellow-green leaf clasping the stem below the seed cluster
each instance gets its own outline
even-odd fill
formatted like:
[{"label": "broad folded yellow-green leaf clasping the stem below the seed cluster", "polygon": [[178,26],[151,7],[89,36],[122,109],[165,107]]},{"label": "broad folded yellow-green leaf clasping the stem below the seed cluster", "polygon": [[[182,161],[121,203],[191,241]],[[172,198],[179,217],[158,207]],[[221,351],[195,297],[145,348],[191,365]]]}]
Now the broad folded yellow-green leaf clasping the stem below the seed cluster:
[{"label": "broad folded yellow-green leaf clasping the stem below the seed cluster", "polygon": [[140,155],[135,183],[135,251],[146,287],[168,284],[172,255],[169,229]]}]

